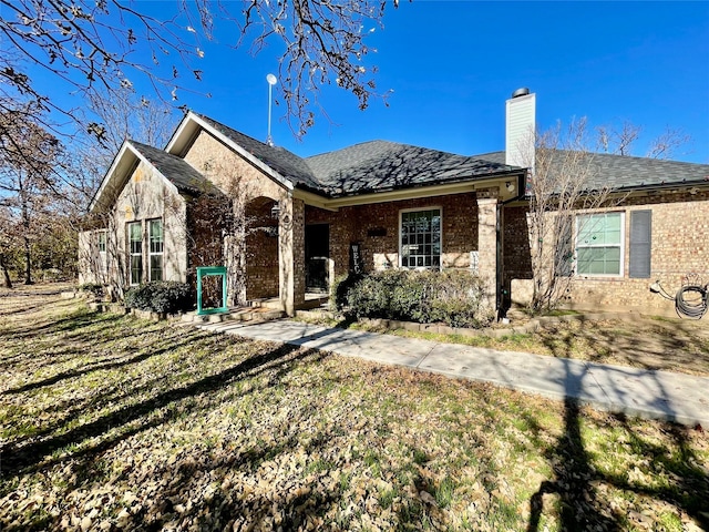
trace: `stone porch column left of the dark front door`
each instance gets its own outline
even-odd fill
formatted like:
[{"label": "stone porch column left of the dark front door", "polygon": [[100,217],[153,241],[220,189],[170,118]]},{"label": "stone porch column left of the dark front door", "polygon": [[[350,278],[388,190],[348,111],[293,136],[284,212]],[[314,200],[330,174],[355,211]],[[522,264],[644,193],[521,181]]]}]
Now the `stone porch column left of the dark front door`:
[{"label": "stone porch column left of the dark front door", "polygon": [[284,197],[278,219],[278,282],[280,303],[288,316],[306,300],[305,204]]}]

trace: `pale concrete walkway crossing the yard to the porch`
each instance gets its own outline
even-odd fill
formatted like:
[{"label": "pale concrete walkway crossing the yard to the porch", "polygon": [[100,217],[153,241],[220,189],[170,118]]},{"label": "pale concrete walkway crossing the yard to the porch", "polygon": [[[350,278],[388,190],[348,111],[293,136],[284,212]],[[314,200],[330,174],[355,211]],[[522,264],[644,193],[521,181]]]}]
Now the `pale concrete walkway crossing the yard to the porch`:
[{"label": "pale concrete walkway crossing the yard to the porch", "polygon": [[600,410],[709,428],[709,378],[496,351],[290,320],[204,324],[199,328],[493,382]]}]

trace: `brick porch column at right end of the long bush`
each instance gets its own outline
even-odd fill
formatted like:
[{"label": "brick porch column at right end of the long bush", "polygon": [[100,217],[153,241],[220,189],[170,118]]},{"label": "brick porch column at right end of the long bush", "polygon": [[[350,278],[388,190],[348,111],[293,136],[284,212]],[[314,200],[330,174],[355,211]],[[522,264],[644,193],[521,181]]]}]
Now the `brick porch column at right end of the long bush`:
[{"label": "brick porch column at right end of the long bush", "polygon": [[482,307],[497,310],[497,195],[477,193],[477,275],[483,284]]}]

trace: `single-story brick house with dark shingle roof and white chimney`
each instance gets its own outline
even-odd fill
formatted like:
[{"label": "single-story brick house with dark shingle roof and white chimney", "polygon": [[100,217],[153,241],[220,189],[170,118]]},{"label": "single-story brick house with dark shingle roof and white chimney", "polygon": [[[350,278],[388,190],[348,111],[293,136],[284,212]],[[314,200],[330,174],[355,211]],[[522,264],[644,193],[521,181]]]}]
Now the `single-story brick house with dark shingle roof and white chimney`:
[{"label": "single-story brick house with dark shingle roof and white chimney", "polygon": [[[534,164],[521,140],[534,94],[506,105],[505,151],[479,156],[372,141],[302,158],[188,112],[164,150],[121,147],[80,235],[80,280],[122,291],[224,265],[232,301],[277,298],[292,315],[351,270],[460,268],[504,308],[532,278]],[[573,235],[567,303],[662,314],[651,282],[709,283],[709,165],[607,154],[590,164],[621,200],[574,213],[596,228]]]}]

